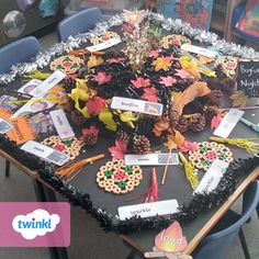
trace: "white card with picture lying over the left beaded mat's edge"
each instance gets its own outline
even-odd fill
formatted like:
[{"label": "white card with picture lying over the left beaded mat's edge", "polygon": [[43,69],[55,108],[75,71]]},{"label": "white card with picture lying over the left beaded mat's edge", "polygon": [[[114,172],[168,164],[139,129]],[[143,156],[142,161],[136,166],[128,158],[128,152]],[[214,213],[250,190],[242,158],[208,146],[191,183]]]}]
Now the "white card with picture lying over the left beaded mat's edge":
[{"label": "white card with picture lying over the left beaded mat's edge", "polygon": [[21,146],[21,149],[30,154],[33,154],[37,157],[44,158],[47,161],[50,161],[58,166],[63,166],[65,162],[67,162],[70,159],[69,155],[64,154],[61,151],[57,151],[50,147],[47,147],[34,140],[30,140],[25,143],[23,146]]}]

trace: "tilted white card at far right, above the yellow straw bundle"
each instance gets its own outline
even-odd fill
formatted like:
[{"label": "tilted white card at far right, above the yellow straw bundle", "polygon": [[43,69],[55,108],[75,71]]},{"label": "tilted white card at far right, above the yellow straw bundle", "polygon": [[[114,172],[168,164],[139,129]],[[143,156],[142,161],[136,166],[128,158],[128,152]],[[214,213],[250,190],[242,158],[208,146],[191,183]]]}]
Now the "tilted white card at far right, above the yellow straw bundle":
[{"label": "tilted white card at far right, above the yellow straw bundle", "polygon": [[244,111],[232,109],[221,121],[217,128],[214,131],[214,135],[219,137],[228,137],[240,117],[243,116]]}]

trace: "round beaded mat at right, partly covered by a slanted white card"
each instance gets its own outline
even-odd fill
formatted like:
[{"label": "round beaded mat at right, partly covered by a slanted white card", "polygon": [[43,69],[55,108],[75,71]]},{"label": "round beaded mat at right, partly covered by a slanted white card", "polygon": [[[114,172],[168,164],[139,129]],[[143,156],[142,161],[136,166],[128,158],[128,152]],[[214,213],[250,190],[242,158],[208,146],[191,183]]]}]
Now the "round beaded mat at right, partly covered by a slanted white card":
[{"label": "round beaded mat at right, partly covered by a slanted white card", "polygon": [[233,161],[233,154],[230,149],[223,144],[215,142],[202,142],[199,143],[196,151],[190,151],[189,160],[193,167],[198,169],[207,170],[215,159],[219,159],[226,162]]}]

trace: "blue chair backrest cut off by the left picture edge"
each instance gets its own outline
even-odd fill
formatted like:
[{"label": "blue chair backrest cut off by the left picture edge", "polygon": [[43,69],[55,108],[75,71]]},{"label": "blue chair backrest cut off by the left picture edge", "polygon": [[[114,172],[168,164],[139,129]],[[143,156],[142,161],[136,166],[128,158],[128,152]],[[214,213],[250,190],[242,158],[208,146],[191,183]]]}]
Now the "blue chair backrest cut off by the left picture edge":
[{"label": "blue chair backrest cut off by the left picture edge", "polygon": [[30,61],[42,49],[40,42],[33,37],[22,37],[0,47],[0,74],[9,72],[12,65]]}]

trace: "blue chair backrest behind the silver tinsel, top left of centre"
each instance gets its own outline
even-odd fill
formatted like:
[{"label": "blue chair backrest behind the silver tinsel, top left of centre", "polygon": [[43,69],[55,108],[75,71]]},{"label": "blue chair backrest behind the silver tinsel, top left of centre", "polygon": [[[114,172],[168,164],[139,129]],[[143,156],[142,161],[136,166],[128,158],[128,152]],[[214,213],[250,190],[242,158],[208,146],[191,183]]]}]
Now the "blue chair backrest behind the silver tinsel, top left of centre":
[{"label": "blue chair backrest behind the silver tinsel, top left of centre", "polygon": [[66,42],[71,35],[86,33],[94,29],[98,22],[103,20],[99,8],[89,8],[64,19],[57,25],[57,37],[59,42]]}]

